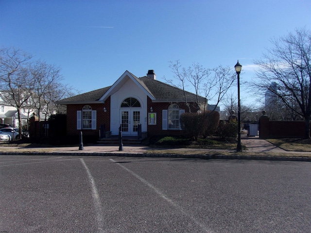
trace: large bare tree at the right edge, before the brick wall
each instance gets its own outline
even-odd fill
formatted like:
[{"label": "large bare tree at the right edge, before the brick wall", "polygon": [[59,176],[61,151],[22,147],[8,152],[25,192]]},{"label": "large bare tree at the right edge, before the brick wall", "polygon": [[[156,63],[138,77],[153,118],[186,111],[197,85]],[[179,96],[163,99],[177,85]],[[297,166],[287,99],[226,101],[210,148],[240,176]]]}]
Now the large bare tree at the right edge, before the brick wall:
[{"label": "large bare tree at the right edge, before the brick wall", "polygon": [[271,42],[274,47],[255,61],[259,68],[257,82],[252,86],[262,94],[266,91],[273,93],[289,109],[302,116],[306,122],[305,138],[311,138],[311,33],[297,29],[295,33]]}]

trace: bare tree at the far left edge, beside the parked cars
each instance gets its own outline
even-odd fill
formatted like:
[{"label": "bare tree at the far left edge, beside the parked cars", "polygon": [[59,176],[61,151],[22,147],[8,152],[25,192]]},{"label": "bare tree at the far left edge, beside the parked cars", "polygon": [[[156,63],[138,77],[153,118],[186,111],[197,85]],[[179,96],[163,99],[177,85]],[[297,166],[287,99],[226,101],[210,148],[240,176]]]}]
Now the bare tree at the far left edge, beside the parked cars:
[{"label": "bare tree at the far left edge, beside the parked cars", "polygon": [[28,62],[32,55],[15,48],[0,50],[0,91],[6,103],[17,108],[18,128],[21,132],[21,109],[30,97],[31,83]]}]

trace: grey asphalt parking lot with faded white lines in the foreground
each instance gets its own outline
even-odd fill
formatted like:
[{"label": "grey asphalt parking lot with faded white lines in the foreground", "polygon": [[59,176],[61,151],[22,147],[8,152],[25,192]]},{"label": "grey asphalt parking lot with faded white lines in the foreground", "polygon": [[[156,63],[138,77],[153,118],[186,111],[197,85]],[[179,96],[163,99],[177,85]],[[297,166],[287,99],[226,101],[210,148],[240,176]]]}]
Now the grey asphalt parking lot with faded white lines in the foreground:
[{"label": "grey asphalt parking lot with faded white lines in the foreground", "polygon": [[311,232],[311,163],[0,156],[0,232]]}]

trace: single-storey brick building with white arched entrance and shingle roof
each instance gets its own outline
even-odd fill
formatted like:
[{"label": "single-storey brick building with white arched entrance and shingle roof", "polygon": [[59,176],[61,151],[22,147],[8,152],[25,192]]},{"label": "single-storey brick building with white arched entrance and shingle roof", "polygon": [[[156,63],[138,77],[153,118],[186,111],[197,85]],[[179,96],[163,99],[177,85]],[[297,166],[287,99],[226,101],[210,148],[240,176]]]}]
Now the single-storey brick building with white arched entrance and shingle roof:
[{"label": "single-storey brick building with white arched entrance and shingle roof", "polygon": [[[182,134],[180,115],[198,110],[196,95],[157,81],[154,70],[137,78],[125,71],[112,85],[60,100],[67,105],[67,134],[99,136],[105,125],[112,135],[137,135],[138,125],[148,135]],[[185,94],[188,101],[185,102]],[[199,97],[201,110],[207,105]],[[206,108],[205,108],[206,109]]]}]

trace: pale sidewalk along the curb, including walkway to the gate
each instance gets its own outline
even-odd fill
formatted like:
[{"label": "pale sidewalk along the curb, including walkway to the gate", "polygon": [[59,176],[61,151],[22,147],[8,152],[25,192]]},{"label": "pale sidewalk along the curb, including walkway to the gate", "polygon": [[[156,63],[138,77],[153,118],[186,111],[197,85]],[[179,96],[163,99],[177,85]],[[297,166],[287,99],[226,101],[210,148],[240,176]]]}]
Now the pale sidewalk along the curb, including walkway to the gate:
[{"label": "pale sidewalk along the curb, including walkway to the gate", "polygon": [[[246,138],[241,140],[242,144],[248,149],[246,153],[235,153],[235,150],[217,150],[217,149],[189,149],[189,148],[150,148],[145,146],[119,146],[111,145],[87,145],[84,150],[79,147],[55,147],[55,148],[24,148],[24,147],[1,147],[0,155],[87,155],[87,156],[137,156],[137,157],[184,157],[201,159],[259,159],[259,160],[291,160],[291,161],[311,161],[307,157],[310,152],[285,151],[277,148],[266,140],[259,138]],[[154,152],[152,150],[156,150]],[[193,153],[191,153],[191,150]],[[1,152],[2,151],[2,152]],[[160,151],[160,152],[158,152]],[[255,152],[254,155],[247,155],[249,152]],[[277,155],[269,156],[264,152],[273,152]],[[261,153],[261,154],[260,154]],[[284,155],[282,155],[284,153]],[[224,155],[225,154],[225,155]],[[229,155],[227,155],[229,154]],[[289,156],[292,154],[294,156]]]}]

